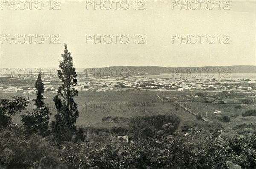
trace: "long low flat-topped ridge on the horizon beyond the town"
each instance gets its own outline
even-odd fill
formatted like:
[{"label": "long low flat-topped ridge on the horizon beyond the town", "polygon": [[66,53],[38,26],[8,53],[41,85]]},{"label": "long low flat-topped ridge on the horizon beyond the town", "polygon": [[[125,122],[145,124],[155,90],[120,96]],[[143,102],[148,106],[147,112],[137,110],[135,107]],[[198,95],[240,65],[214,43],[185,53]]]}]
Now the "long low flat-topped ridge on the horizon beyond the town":
[{"label": "long low flat-topped ridge on the horizon beyond the town", "polygon": [[[124,72],[134,72],[134,70],[139,71],[143,69],[145,73],[172,73],[173,71],[178,70],[179,72],[194,71],[200,72],[200,69],[203,72],[206,70],[213,70],[214,72],[223,73],[224,70],[229,70],[229,73],[256,73],[256,66],[203,66],[203,67],[160,67],[160,66],[109,66],[103,68],[87,68],[84,69],[84,73],[93,73],[93,72],[101,72],[111,70],[112,72],[115,70],[116,72],[120,72],[123,70]],[[194,69],[194,70],[193,70]],[[227,72],[226,70],[226,72]]]}]

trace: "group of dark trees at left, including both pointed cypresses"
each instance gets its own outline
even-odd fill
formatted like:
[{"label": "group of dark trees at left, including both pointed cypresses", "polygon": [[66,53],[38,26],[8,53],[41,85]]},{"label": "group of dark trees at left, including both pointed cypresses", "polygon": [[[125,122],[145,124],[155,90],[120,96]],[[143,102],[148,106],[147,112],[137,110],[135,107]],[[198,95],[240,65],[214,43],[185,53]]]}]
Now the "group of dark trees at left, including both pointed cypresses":
[{"label": "group of dark trees at left, including both pointed cypresses", "polygon": [[[75,125],[79,116],[77,104],[73,99],[78,95],[78,91],[74,89],[77,84],[77,74],[76,68],[73,67],[73,58],[66,44],[64,45],[64,54],[61,57],[63,60],[59,64],[58,77],[62,84],[53,99],[57,113],[54,116],[54,121],[50,124],[51,128],[48,128],[51,113],[44,103],[44,84],[41,79],[41,71],[39,71],[35,82],[36,99],[32,100],[35,109],[20,115],[22,125],[27,133],[37,133],[43,136],[52,134],[58,144],[63,141],[71,141],[74,138],[77,139],[77,137],[84,139],[81,129],[76,129]],[[26,110],[28,104],[30,104],[29,97],[15,96],[12,100],[0,99],[0,128],[12,124],[11,116]]]}]

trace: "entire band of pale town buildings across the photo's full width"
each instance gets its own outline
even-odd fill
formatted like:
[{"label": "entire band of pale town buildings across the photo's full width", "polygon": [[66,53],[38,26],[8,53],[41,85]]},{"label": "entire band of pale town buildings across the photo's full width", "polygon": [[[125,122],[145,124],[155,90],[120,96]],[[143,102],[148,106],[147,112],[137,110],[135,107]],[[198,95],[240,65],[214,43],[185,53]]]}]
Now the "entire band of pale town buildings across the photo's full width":
[{"label": "entire band of pale town buildings across the photo's full width", "polygon": [[[54,80],[54,79],[52,79]],[[74,87],[76,90],[87,90],[106,92],[120,89],[134,90],[243,90],[256,91],[255,80],[210,80],[210,79],[173,79],[173,78],[146,78],[146,77],[125,77],[125,78],[79,78],[79,83]],[[59,84],[52,85],[52,82],[45,78],[45,91],[56,92]],[[252,87],[251,87],[252,86]],[[254,87],[253,87],[254,86]],[[34,87],[12,87],[1,86],[3,92],[35,93]]]}]

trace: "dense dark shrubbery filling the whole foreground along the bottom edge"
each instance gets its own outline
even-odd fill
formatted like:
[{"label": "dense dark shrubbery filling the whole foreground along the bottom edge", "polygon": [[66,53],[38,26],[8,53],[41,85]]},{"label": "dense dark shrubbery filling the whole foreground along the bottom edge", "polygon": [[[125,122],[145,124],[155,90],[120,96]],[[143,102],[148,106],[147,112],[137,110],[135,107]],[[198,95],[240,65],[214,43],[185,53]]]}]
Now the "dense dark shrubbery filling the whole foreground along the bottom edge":
[{"label": "dense dark shrubbery filling the whole foreground along the bottom edge", "polygon": [[[169,124],[166,126],[170,126]],[[253,169],[256,135],[198,138],[176,132],[132,144],[65,142],[52,136],[29,137],[20,127],[0,131],[0,168],[4,169]],[[191,137],[194,137],[193,135]],[[195,138],[194,138],[195,139]],[[196,142],[201,141],[201,144]]]}]

